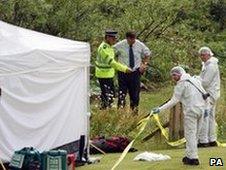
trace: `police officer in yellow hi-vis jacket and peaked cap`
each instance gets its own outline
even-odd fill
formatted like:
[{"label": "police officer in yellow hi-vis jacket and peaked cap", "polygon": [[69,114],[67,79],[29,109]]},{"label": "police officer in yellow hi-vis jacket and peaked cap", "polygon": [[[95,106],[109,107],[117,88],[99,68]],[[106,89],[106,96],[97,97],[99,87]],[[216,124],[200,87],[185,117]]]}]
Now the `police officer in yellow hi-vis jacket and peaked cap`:
[{"label": "police officer in yellow hi-vis jacket and peaked cap", "polygon": [[101,89],[101,109],[111,107],[115,88],[113,78],[115,69],[124,73],[130,73],[131,69],[123,64],[115,61],[115,52],[112,45],[117,39],[117,32],[114,30],[105,31],[104,41],[97,50],[97,58],[95,61],[95,76],[98,78]]}]

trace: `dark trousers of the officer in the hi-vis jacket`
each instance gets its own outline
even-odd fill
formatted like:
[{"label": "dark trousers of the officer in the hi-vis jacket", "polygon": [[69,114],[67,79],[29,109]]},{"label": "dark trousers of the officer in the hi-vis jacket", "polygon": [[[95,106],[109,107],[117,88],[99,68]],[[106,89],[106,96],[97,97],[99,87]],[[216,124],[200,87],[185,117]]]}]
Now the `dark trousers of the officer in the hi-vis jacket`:
[{"label": "dark trousers of the officer in the hi-vis jacket", "polygon": [[113,78],[98,78],[101,89],[101,109],[111,107],[115,97],[115,86]]}]

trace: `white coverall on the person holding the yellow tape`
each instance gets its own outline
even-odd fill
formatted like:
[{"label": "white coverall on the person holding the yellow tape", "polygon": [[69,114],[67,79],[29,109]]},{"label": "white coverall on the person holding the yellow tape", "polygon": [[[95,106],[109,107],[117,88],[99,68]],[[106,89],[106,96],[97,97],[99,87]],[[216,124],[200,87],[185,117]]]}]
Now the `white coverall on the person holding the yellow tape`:
[{"label": "white coverall on the person holding the yellow tape", "polygon": [[159,109],[162,111],[173,107],[178,102],[182,103],[184,136],[186,139],[185,156],[190,159],[198,159],[197,141],[203,122],[206,101],[203,99],[201,92],[186,80],[190,80],[204,94],[206,93],[198,79],[184,73],[174,88],[173,97]]}]

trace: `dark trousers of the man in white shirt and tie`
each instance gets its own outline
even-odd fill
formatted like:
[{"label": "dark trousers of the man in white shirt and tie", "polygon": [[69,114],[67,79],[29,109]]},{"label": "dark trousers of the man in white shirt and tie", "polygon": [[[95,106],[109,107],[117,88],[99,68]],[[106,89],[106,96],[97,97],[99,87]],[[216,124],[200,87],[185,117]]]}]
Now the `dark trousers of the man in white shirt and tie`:
[{"label": "dark trousers of the man in white shirt and tie", "polygon": [[118,72],[118,84],[119,84],[119,95],[118,95],[118,107],[125,107],[126,94],[129,92],[130,97],[130,108],[134,110],[138,108],[140,100],[140,72],[139,70],[134,71],[130,74]]}]

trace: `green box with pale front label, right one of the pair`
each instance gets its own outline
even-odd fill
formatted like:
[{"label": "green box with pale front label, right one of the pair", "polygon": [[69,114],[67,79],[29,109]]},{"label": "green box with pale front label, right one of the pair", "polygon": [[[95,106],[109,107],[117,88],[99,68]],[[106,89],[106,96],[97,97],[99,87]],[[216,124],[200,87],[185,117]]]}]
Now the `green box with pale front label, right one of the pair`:
[{"label": "green box with pale front label, right one of the pair", "polygon": [[42,157],[42,170],[67,170],[67,151],[45,151]]}]

